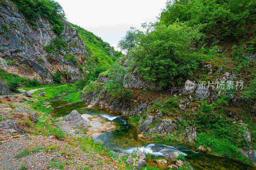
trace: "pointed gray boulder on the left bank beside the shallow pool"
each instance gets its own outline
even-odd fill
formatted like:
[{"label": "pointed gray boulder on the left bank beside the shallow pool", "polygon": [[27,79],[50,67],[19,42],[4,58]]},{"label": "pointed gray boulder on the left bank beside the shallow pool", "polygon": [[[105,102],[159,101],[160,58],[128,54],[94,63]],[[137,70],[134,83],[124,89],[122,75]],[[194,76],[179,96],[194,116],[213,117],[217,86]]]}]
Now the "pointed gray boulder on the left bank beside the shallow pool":
[{"label": "pointed gray boulder on the left bank beside the shallow pool", "polygon": [[70,114],[63,117],[62,120],[55,124],[58,125],[62,131],[70,135],[83,134],[84,131],[82,129],[86,129],[90,126],[76,110],[71,111]]}]

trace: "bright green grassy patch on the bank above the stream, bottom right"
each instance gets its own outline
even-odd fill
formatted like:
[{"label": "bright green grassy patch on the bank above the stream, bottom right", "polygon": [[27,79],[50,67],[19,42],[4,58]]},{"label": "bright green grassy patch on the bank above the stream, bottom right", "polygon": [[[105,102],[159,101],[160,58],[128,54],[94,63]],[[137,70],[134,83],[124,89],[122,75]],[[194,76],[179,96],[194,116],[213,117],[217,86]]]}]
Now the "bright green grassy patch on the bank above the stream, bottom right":
[{"label": "bright green grassy patch on the bank above the stream, bottom right", "polygon": [[214,137],[208,137],[204,134],[197,135],[197,145],[204,145],[211,147],[212,150],[218,153],[220,156],[226,156],[231,159],[239,160],[245,163],[252,163],[252,160],[247,159],[243,156],[242,152],[239,151],[235,145],[230,143],[228,140],[219,140]]}]

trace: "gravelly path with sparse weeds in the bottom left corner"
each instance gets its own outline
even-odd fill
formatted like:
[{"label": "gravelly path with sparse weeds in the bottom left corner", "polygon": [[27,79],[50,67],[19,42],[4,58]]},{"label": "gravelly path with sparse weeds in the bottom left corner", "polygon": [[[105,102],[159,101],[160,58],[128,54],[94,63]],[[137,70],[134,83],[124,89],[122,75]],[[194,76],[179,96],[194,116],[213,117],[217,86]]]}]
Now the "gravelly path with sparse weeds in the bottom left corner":
[{"label": "gravelly path with sparse weeds in the bottom left corner", "polygon": [[[66,169],[78,170],[82,167],[89,167],[92,170],[112,170],[117,169],[115,165],[104,163],[111,160],[107,156],[101,156],[98,153],[87,153],[82,151],[81,147],[73,147],[68,142],[55,139],[53,136],[26,136],[21,135],[18,138],[12,138],[1,141],[0,145],[0,169],[1,170],[19,170],[21,166],[27,166],[29,170],[60,169],[51,166],[52,162],[58,162],[64,165]],[[31,150],[37,147],[55,149],[40,150],[32,152],[27,156],[15,158],[16,155],[23,152],[26,148]],[[98,161],[101,160],[100,164]]]}]

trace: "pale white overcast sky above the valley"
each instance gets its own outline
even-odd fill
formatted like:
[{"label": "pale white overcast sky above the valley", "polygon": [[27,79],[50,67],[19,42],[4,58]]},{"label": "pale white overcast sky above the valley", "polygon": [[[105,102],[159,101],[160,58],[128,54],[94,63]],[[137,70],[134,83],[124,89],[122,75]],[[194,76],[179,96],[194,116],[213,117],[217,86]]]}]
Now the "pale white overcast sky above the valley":
[{"label": "pale white overcast sky above the valley", "polygon": [[132,26],[154,22],[167,0],[55,0],[63,7],[69,22],[101,37],[116,48]]}]

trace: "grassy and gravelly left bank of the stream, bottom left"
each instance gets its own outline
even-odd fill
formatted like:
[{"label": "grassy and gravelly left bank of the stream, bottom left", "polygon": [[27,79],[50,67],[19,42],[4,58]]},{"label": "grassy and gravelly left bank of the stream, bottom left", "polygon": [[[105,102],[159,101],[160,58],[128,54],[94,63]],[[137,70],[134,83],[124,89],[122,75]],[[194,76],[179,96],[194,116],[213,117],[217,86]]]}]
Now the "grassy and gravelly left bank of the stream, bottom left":
[{"label": "grassy and gravelly left bank of the stream, bottom left", "polygon": [[[48,92],[53,90],[56,89],[48,89]],[[59,91],[63,91],[63,87]],[[20,94],[0,96],[0,123],[17,122],[14,129],[7,128],[8,132],[22,128],[24,133],[2,134],[0,169],[124,169],[125,164],[116,161],[107,148],[95,144],[90,138],[67,136],[53,125],[54,118],[49,114],[52,109],[43,106],[51,94],[45,99],[36,97],[35,93],[32,95],[35,98]],[[39,120],[33,122],[29,116],[17,114],[15,108],[19,107],[36,113]]]}]

